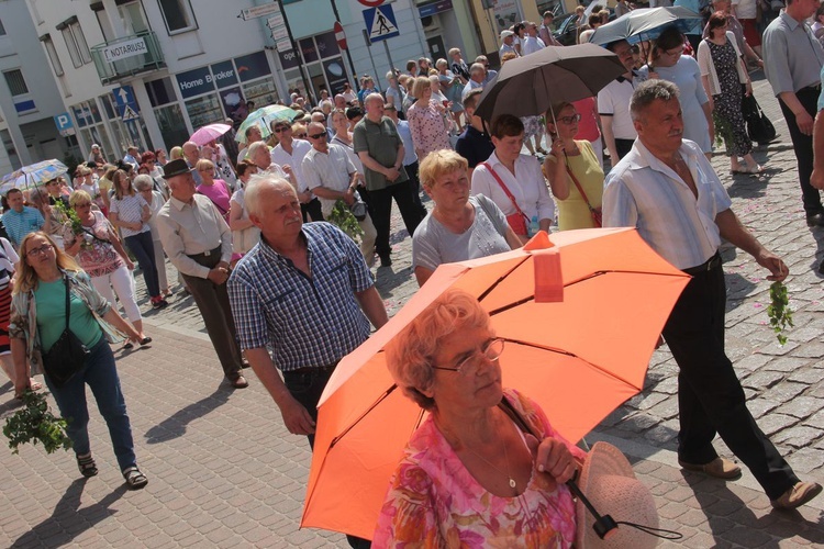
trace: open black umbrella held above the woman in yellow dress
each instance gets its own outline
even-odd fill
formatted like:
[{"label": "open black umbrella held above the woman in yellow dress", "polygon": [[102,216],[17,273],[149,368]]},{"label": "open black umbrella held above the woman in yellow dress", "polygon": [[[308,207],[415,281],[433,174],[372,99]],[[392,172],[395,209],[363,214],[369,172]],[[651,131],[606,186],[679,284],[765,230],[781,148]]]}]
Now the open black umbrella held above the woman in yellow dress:
[{"label": "open black umbrella held above the woman in yellow dress", "polygon": [[560,101],[594,97],[624,72],[615,54],[594,44],[547,46],[506,61],[485,87],[476,114],[487,121],[544,114]]}]

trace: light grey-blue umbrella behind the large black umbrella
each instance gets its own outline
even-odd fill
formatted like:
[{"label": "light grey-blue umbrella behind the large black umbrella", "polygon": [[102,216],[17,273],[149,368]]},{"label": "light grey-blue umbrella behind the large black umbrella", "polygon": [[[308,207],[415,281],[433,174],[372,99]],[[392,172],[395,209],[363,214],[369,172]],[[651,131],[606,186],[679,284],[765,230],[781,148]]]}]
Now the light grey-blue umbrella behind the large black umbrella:
[{"label": "light grey-blue umbrella behind the large black umbrella", "polygon": [[590,43],[604,45],[625,40],[637,44],[657,38],[669,25],[676,25],[683,34],[701,34],[702,22],[701,15],[687,8],[642,8],[599,26]]}]

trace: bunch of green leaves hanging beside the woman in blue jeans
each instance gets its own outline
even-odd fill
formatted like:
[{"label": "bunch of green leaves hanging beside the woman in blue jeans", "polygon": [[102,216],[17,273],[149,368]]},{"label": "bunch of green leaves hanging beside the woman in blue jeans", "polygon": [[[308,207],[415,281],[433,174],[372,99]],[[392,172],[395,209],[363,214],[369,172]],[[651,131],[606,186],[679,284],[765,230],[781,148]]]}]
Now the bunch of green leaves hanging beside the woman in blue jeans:
[{"label": "bunch of green leaves hanging beside the woman in blue jeans", "polygon": [[23,393],[24,407],[5,421],[3,435],[9,439],[9,448],[13,453],[20,451],[20,445],[36,445],[37,441],[43,444],[46,453],[71,448],[71,439],[66,435],[68,422],[52,413],[46,394],[26,389]]}]

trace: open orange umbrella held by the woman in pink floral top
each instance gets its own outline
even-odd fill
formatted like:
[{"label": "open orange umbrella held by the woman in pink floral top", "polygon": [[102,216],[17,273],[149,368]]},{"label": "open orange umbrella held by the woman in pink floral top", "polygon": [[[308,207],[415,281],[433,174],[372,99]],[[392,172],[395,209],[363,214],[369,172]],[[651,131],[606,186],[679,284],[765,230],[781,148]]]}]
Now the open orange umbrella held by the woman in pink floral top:
[{"label": "open orange umbrella held by the woman in pink floral top", "polygon": [[371,538],[401,450],[424,418],[394,385],[382,349],[446,289],[476,295],[506,340],[504,386],[578,440],[643,389],[689,279],[631,228],[568,231],[552,242],[538,233],[522,249],[442,265],[326,385],[301,526]]}]

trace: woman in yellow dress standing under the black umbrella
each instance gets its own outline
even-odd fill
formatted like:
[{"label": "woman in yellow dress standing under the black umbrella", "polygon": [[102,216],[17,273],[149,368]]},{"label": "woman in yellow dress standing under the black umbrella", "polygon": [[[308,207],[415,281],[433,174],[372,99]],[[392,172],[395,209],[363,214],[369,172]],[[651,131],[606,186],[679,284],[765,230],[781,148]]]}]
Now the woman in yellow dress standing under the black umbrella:
[{"label": "woman in yellow dress standing under the black umbrella", "polygon": [[560,231],[601,226],[603,168],[592,144],[575,138],[580,120],[571,103],[555,104],[546,112],[553,146],[544,159],[544,173],[558,204]]}]

